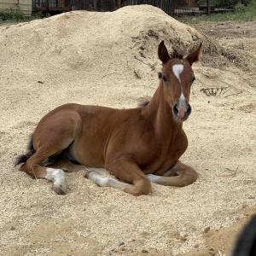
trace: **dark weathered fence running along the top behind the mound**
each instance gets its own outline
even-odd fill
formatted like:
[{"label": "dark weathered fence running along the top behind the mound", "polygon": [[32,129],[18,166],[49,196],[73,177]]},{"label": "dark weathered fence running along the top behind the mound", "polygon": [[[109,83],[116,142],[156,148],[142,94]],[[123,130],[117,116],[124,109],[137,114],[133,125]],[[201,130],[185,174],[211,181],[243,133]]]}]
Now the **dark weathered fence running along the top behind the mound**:
[{"label": "dark weathered fence running along the top behind the mound", "polygon": [[[22,1],[26,5],[19,5]],[[1,2],[4,2],[4,8],[11,6],[10,9],[14,9],[17,3],[21,9],[29,8],[25,10],[26,15],[30,15],[32,9],[44,15],[56,15],[77,9],[113,11],[125,5],[150,4],[162,9],[167,15],[177,16],[232,11],[236,0],[0,0],[0,9]]]}]

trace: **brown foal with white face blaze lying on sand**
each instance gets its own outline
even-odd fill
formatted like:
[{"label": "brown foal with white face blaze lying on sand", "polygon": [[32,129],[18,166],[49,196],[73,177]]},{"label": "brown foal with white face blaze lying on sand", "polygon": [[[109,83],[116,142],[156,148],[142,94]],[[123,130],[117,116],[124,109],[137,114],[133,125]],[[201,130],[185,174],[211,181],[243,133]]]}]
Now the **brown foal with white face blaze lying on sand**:
[{"label": "brown foal with white face blaze lying on sand", "polygon": [[[53,182],[56,194],[66,191],[63,171],[84,169],[85,177],[102,187],[146,195],[151,183],[186,186],[195,170],[179,158],[188,147],[183,121],[189,117],[192,64],[199,61],[201,45],[186,58],[168,54],[161,42],[160,84],[141,108],[113,109],[66,104],[47,113],[36,127],[27,154],[16,165],[32,177]],[[79,165],[75,165],[76,162]],[[102,177],[85,166],[103,167],[114,177]]]}]

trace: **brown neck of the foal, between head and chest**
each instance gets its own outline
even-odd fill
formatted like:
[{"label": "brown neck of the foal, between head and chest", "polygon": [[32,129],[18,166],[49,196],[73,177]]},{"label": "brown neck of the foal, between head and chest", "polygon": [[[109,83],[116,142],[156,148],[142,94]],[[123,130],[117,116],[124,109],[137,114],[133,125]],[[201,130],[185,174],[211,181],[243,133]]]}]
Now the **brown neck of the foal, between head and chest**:
[{"label": "brown neck of the foal, between head and chest", "polygon": [[154,96],[144,108],[144,113],[154,125],[155,132],[161,137],[168,138],[182,129],[182,123],[177,123],[173,119],[172,108],[167,104],[164,93],[164,84],[160,82]]}]

